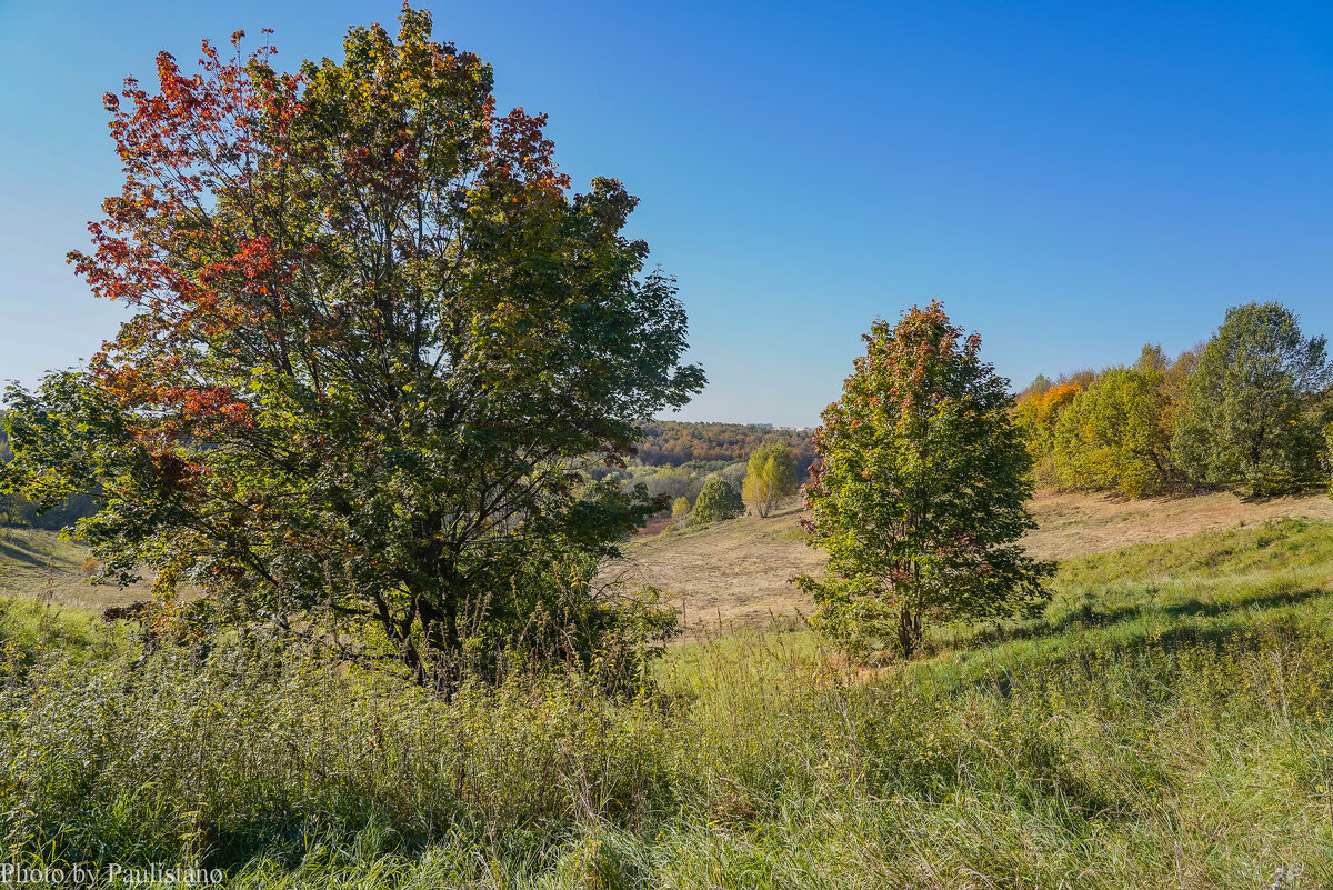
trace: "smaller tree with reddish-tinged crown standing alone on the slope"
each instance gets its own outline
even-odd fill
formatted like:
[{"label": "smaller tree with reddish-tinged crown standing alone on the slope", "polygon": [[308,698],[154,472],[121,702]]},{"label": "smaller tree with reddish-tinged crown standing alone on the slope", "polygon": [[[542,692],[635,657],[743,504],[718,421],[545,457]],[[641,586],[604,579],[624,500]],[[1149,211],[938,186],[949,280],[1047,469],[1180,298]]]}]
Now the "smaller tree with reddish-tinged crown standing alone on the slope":
[{"label": "smaller tree with reddish-tinged crown standing alone on the slope", "polygon": [[944,308],[913,306],[864,337],[842,397],[824,410],[821,462],[806,485],[808,544],[829,554],[817,626],[846,642],[896,634],[904,657],[925,614],[1032,614],[1052,566],[1017,541],[1034,526],[1029,457],[1009,418],[1008,381]]}]

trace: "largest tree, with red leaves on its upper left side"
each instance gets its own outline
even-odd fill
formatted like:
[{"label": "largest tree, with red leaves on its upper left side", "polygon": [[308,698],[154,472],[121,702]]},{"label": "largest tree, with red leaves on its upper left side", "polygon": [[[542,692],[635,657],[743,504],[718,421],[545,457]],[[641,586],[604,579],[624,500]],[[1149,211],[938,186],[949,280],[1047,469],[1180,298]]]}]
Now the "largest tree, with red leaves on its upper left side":
[{"label": "largest tree, with red leaves on its upper left side", "polygon": [[87,372],[11,389],[5,474],[99,485],[79,533],[112,578],[364,618],[448,683],[665,506],[580,466],[704,377],[621,234],[636,199],[571,195],[545,117],[497,115],[487,64],[400,21],[297,73],[237,32],[107,95],[125,181],[71,260],[133,317]]}]

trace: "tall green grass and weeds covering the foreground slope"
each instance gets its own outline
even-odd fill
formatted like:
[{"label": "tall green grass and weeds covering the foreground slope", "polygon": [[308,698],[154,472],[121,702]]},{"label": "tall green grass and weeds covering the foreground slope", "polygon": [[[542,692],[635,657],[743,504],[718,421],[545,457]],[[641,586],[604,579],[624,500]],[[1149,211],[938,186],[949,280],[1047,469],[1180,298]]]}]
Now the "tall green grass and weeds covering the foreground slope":
[{"label": "tall green grass and weeds covering the foreground slope", "polygon": [[253,887],[1333,885],[1325,522],[1066,558],[1042,618],[937,630],[909,665],[801,630],[689,642],[633,702],[571,677],[445,705],[91,625],[33,656],[39,620],[0,617],[0,834],[33,861]]}]

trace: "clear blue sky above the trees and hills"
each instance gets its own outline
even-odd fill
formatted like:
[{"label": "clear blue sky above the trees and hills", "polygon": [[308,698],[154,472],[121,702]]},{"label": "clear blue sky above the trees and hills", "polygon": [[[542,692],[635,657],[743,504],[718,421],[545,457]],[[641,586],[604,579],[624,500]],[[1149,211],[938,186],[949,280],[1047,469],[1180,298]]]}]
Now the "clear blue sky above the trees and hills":
[{"label": "clear blue sky above the trees and hills", "polygon": [[[1333,334],[1333,4],[424,0],[551,115],[576,185],[643,199],[708,389],[817,422],[858,336],[932,297],[1021,386],[1277,298]],[[115,333],[64,264],[120,175],[101,95],[200,37],[341,56],[399,4],[0,0],[0,378]]]}]

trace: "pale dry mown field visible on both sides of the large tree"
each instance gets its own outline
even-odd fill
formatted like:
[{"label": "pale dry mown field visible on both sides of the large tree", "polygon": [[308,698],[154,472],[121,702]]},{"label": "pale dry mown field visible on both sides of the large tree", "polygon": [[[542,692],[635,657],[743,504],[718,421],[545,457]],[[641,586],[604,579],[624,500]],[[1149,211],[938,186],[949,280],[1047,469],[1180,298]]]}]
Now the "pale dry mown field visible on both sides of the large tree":
[{"label": "pale dry mown field visible on both sides of the large tree", "polygon": [[[1122,501],[1044,492],[1033,513],[1038,528],[1028,536],[1029,550],[1062,560],[1281,517],[1333,521],[1333,501],[1322,493],[1262,501],[1226,493]],[[766,520],[746,516],[678,534],[640,534],[603,580],[660,588],[682,608],[694,634],[798,621],[797,613],[808,614],[813,605],[788,578],[824,569],[824,554],[805,545],[798,517],[793,501]],[[88,584],[85,556],[83,546],[51,532],[0,529],[0,597],[49,593],[56,605],[83,609],[148,597],[147,584],[125,590]]]}]

